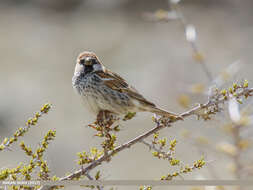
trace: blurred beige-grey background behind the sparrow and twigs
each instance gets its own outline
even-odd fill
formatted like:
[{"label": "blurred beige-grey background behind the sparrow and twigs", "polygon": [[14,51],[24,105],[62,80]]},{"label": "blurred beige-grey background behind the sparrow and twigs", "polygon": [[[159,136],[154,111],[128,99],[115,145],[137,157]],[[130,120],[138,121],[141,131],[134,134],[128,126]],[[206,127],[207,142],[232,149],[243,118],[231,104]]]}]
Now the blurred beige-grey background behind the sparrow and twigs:
[{"label": "blurred beige-grey background behind the sparrow and twigs", "polygon": [[[232,68],[231,81],[252,82],[253,1],[183,0],[179,4],[187,23],[196,28],[194,43],[213,77],[227,80],[230,75],[224,78],[224,73],[230,74]],[[50,102],[52,111],[22,140],[35,148],[49,129],[57,131],[46,154],[52,175],[61,177],[75,171],[79,168],[76,153],[99,147],[100,139],[86,127],[95,117],[83,108],[71,85],[76,57],[84,50],[94,51],[106,67],[164,109],[183,112],[197,102],[204,103],[207,97],[202,91],[210,81],[193,58],[180,19],[150,19],[160,9],[173,12],[169,7],[167,0],[0,1],[1,141],[24,126],[41,105]],[[151,116],[140,113],[122,122],[118,144],[151,129]],[[238,177],[235,163],[226,153],[196,145],[200,138],[214,148],[218,142],[233,144],[231,135],[223,133],[224,118],[229,116],[219,114],[208,122],[191,117],[160,133],[170,140],[177,139],[176,157],[184,163],[191,164],[202,154],[212,161],[184,175],[185,179]],[[186,133],[192,137],[186,137]],[[252,151],[246,153],[243,159],[252,163]],[[18,143],[12,151],[1,153],[1,167],[15,167],[20,161],[29,158]],[[154,158],[142,144],[121,152],[99,169],[103,179],[159,179],[173,171],[168,162]],[[252,175],[253,167],[247,172],[247,177]]]}]

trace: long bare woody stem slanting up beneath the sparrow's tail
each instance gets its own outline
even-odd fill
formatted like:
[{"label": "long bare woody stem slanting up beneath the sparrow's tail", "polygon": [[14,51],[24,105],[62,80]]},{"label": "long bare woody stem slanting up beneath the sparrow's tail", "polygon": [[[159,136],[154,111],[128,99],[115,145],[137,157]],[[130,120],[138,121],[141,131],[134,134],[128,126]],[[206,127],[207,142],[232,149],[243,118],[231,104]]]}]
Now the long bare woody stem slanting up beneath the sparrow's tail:
[{"label": "long bare woody stem slanting up beneath the sparrow's tail", "polygon": [[[253,88],[241,88],[241,91],[236,94],[236,97],[239,98],[239,97],[243,97],[243,96],[244,97],[253,96]],[[219,112],[219,105],[225,103],[226,101],[228,101],[228,97],[225,96],[224,93],[217,93],[217,94],[211,96],[205,104],[199,104],[198,106],[196,106],[186,112],[183,112],[182,114],[180,114],[180,116],[183,118],[187,118],[189,116],[196,115],[196,116],[198,116],[198,118],[200,117],[200,118],[203,118],[206,120],[208,118],[206,118],[205,116],[202,115],[203,111],[208,110],[209,108],[215,107],[216,111],[214,111],[212,113],[212,114],[215,114],[215,113]],[[76,172],[73,172],[65,177],[60,178],[59,180],[60,181],[72,180],[75,178],[79,178],[82,175],[86,175],[92,169],[101,165],[103,162],[110,159],[116,153],[119,153],[127,148],[130,148],[131,146],[133,146],[136,143],[143,142],[144,139],[146,139],[150,135],[152,135],[164,128],[172,127],[173,126],[172,123],[175,123],[177,121],[178,120],[164,121],[162,119],[155,119],[156,126],[154,128],[152,128],[151,130],[149,130],[149,131],[135,137],[134,139],[116,147],[114,150],[109,151],[108,154],[106,154],[106,155],[104,154],[103,156],[101,156],[97,160],[90,163],[87,167],[85,167],[83,169],[79,169]],[[40,190],[49,190],[52,188],[53,188],[53,186],[51,186],[51,187],[50,186],[42,186],[40,188]]]}]

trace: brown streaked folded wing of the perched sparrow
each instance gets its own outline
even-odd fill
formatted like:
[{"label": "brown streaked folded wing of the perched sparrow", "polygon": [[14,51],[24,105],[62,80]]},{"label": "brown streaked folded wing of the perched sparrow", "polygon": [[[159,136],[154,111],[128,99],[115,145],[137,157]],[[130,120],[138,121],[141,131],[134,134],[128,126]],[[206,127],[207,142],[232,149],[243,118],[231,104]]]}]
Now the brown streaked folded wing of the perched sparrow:
[{"label": "brown streaked folded wing of the perched sparrow", "polygon": [[113,90],[117,90],[119,92],[127,93],[128,96],[138,100],[140,103],[155,107],[155,104],[146,100],[138,91],[130,86],[122,77],[113,73],[109,70],[97,71],[97,75],[100,76],[104,80],[104,84]]}]

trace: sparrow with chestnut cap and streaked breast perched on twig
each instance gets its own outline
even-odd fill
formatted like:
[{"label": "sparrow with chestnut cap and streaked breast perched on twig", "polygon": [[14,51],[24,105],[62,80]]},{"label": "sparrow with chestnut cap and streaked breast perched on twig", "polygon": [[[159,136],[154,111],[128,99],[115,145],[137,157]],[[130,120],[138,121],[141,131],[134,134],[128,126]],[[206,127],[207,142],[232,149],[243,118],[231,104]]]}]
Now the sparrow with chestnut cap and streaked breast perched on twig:
[{"label": "sparrow with chestnut cap and streaked breast perched on twig", "polygon": [[86,108],[96,116],[101,111],[119,116],[129,112],[152,112],[170,119],[182,119],[144,98],[121,76],[108,70],[93,52],[85,51],[77,57],[72,86]]}]

